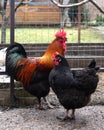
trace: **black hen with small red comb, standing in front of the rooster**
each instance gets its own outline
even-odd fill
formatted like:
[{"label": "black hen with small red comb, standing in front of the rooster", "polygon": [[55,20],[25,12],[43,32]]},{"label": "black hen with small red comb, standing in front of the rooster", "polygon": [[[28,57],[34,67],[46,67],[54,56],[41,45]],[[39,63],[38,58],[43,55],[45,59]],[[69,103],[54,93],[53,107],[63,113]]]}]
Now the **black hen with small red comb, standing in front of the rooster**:
[{"label": "black hen with small red comb, standing in front of the rooster", "polygon": [[[53,56],[55,67],[49,74],[49,83],[59,102],[66,109],[66,119],[75,119],[75,109],[86,106],[91,94],[95,92],[99,77],[99,67],[92,60],[83,70],[71,70],[67,60],[60,54]],[[72,110],[71,116],[68,111]]]}]

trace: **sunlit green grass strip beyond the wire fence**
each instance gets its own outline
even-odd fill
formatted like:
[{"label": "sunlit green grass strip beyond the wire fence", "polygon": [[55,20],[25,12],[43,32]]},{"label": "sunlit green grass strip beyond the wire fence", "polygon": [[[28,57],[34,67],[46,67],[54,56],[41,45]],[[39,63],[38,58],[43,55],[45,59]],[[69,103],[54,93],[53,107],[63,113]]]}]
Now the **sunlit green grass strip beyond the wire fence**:
[{"label": "sunlit green grass strip beyond the wire fence", "polygon": [[[19,43],[50,43],[59,28],[15,28],[15,41]],[[78,42],[78,29],[65,28],[67,43]],[[0,31],[1,35],[1,31]],[[10,43],[10,29],[7,29],[6,43]],[[104,36],[88,28],[81,30],[81,43],[104,43]]]}]

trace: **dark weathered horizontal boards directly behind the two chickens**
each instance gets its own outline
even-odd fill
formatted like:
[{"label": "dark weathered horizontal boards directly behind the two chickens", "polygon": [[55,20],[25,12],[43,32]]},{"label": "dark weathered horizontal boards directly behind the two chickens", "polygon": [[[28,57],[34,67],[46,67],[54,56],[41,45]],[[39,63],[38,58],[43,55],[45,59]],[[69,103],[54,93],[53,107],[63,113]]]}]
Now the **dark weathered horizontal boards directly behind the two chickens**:
[{"label": "dark weathered horizontal boards directly behind the two chickens", "polygon": [[[0,45],[0,49],[8,45]],[[44,54],[48,44],[23,44],[29,57],[40,57]],[[97,64],[104,67],[104,43],[81,43],[67,44],[65,53],[70,66],[72,68],[86,67],[92,59],[97,61]]]}]

